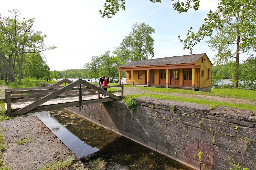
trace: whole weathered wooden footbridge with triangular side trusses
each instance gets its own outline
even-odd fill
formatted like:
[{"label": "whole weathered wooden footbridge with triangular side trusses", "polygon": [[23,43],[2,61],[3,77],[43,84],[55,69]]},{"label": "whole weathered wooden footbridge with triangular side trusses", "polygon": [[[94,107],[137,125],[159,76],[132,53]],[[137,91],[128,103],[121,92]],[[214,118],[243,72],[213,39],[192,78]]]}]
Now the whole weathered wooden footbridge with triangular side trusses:
[{"label": "whole weathered wooden footbridge with triangular side trusses", "polygon": [[[63,83],[68,85],[60,86]],[[82,79],[74,82],[63,79],[49,87],[5,89],[5,109],[8,116],[16,116],[73,106],[82,107],[90,103],[123,98],[123,85],[104,86],[104,88],[121,87],[121,90],[117,91],[105,91],[95,85],[97,84],[91,84]],[[117,92],[121,92],[121,95],[112,94]],[[97,98],[98,94],[105,94],[107,97]]]}]

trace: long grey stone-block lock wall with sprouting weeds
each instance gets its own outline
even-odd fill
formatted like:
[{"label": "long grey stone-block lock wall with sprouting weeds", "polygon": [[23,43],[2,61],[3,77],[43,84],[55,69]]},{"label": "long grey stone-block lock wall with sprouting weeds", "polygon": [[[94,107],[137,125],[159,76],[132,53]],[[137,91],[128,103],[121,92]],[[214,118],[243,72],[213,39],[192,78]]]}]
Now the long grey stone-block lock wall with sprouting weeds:
[{"label": "long grey stone-block lock wall with sprouting weeds", "polygon": [[70,107],[102,127],[194,169],[256,169],[256,112],[137,98],[134,113],[122,101]]}]

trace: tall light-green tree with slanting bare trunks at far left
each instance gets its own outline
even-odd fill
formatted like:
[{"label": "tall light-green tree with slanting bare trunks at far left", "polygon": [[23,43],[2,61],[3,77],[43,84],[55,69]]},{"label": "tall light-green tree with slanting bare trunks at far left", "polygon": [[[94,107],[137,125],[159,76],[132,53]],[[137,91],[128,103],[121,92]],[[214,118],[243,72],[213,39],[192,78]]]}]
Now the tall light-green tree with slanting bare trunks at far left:
[{"label": "tall light-green tree with slanting bare trunks at far left", "polygon": [[[19,11],[14,9],[10,17],[0,18],[0,67],[5,77],[15,81],[15,66],[18,66],[19,80],[22,79],[24,54],[39,53],[47,49],[55,49],[55,46],[45,45],[46,35],[35,31],[35,18],[19,19]],[[3,65],[2,65],[3,63]]]}]

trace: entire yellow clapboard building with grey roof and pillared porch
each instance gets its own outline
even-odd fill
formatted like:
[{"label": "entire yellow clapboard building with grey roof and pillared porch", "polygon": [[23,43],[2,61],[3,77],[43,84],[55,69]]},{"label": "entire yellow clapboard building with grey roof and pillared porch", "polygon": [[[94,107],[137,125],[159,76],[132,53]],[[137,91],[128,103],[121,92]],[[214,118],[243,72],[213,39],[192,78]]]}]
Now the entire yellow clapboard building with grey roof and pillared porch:
[{"label": "entire yellow clapboard building with grey roof and pillared porch", "polygon": [[212,63],[204,54],[131,61],[118,67],[126,84],[211,91]]}]

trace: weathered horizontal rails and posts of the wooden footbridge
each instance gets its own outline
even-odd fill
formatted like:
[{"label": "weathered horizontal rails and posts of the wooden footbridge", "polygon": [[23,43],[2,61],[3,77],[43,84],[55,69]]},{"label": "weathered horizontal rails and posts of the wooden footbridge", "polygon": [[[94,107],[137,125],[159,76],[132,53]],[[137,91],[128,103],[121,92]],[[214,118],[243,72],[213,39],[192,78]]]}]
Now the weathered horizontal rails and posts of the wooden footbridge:
[{"label": "weathered horizontal rails and posts of the wooden footbridge", "polygon": [[[97,84],[94,84],[94,85],[97,86]],[[49,93],[59,90],[62,87],[65,87],[65,86],[5,89],[5,102],[7,104],[7,115],[11,115],[11,109],[12,109],[11,103],[37,101],[42,97],[48,95]],[[104,88],[113,88],[113,87],[121,87],[121,90],[108,91],[108,92],[110,93],[121,92],[121,98],[123,98],[123,85],[104,86]],[[84,93],[84,92],[87,92],[87,93]],[[79,103],[81,103],[82,96],[89,96],[89,95],[95,95],[95,94],[101,94],[101,93],[95,92],[95,90],[88,87],[84,87],[84,86],[73,87],[72,89],[56,96],[54,99],[78,96]],[[17,98],[22,98],[22,99],[17,99]]]}]

